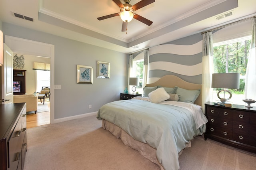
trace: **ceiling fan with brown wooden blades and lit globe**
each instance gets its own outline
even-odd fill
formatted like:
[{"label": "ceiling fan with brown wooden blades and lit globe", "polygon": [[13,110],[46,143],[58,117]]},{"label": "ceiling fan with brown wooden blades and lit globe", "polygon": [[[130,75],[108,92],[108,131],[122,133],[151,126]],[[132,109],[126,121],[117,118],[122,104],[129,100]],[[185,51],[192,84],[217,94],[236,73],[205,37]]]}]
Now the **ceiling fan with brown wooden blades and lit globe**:
[{"label": "ceiling fan with brown wooden blades and lit globe", "polygon": [[97,18],[98,20],[105,20],[107,18],[112,18],[114,16],[120,16],[123,21],[122,32],[127,31],[128,22],[130,22],[132,20],[132,18],[134,18],[140,22],[143,22],[144,24],[146,24],[148,26],[150,26],[153,23],[152,21],[150,21],[138,14],[133,14],[133,12],[144,7],[144,6],[147,6],[147,5],[155,2],[155,0],[141,0],[140,2],[138,2],[137,4],[134,4],[134,5],[129,4],[131,0],[124,0],[124,2],[125,2],[124,4],[122,4],[122,2],[120,2],[120,0],[113,0],[113,1],[120,7],[120,12],[99,17],[99,18]]}]

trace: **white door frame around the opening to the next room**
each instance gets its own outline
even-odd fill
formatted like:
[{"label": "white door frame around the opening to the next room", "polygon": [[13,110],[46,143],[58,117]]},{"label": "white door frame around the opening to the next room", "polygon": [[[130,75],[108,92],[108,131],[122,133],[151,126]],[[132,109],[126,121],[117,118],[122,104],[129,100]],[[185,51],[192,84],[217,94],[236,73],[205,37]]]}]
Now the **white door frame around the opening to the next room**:
[{"label": "white door frame around the opening to the next room", "polygon": [[54,123],[54,45],[12,36],[4,36],[4,43],[6,43],[14,53],[50,57],[50,124]]}]

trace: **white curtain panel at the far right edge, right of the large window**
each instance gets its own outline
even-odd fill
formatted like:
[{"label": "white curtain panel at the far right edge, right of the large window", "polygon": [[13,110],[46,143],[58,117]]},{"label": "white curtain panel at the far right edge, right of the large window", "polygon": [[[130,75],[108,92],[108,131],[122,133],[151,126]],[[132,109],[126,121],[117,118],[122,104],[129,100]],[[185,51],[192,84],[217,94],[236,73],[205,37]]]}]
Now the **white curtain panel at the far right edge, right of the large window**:
[{"label": "white curtain panel at the far right edge, right of the large window", "polygon": [[252,41],[248,63],[246,68],[246,78],[244,86],[244,97],[246,99],[256,99],[256,18],[252,19]]}]

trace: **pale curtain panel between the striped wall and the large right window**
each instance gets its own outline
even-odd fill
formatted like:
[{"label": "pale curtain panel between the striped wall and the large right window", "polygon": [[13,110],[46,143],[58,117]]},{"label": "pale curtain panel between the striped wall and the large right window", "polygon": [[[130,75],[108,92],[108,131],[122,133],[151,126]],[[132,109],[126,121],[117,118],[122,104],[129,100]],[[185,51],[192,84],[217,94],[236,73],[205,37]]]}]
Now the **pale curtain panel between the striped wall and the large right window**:
[{"label": "pale curtain panel between the striped wall and the large right window", "polygon": [[212,32],[203,34],[202,58],[202,110],[204,103],[212,101],[213,43]]}]

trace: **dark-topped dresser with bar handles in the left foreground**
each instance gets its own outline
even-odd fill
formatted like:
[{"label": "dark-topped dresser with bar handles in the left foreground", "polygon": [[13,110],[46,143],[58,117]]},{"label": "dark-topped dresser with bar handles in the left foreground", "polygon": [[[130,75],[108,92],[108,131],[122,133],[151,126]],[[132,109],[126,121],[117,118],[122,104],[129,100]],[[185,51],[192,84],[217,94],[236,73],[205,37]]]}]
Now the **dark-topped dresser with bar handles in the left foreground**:
[{"label": "dark-topped dresser with bar handles in the left foreground", "polygon": [[0,105],[0,169],[22,170],[26,145],[26,103]]}]

